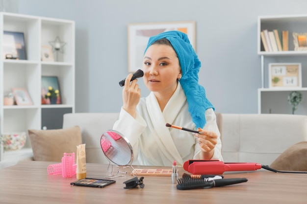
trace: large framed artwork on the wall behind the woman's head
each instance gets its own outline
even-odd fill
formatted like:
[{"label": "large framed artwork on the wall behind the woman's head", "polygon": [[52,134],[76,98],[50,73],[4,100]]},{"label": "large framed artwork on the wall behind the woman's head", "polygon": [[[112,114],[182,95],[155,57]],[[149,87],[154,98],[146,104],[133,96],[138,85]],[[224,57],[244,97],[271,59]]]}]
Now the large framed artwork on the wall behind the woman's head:
[{"label": "large framed artwork on the wall behind the woman's head", "polygon": [[129,23],[128,24],[128,72],[142,67],[143,54],[151,36],[159,33],[179,30],[187,34],[189,41],[196,50],[195,21],[168,23]]}]

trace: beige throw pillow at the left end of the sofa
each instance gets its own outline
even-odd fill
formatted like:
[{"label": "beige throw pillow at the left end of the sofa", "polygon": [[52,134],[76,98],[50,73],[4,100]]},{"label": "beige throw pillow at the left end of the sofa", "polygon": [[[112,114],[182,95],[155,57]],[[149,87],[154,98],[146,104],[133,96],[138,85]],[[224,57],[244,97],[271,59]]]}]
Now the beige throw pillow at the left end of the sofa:
[{"label": "beige throw pillow at the left end of the sofa", "polygon": [[56,130],[28,130],[36,161],[62,161],[64,153],[75,152],[82,144],[81,130],[78,126]]}]

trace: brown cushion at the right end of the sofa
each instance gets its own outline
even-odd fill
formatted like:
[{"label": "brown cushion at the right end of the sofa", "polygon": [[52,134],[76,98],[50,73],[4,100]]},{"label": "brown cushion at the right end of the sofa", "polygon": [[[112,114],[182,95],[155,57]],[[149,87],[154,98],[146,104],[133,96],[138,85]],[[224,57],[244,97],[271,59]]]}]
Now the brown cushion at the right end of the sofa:
[{"label": "brown cushion at the right end of the sofa", "polygon": [[290,146],[270,167],[281,171],[307,171],[307,141]]}]

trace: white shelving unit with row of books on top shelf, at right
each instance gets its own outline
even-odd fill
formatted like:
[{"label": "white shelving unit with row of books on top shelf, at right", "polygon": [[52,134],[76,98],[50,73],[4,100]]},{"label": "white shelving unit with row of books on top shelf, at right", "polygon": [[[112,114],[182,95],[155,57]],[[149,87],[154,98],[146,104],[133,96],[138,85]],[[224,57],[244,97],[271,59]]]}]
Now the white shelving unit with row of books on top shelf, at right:
[{"label": "white shelving unit with row of books on top shelf, at right", "polygon": [[[289,51],[268,52],[261,46],[260,32],[264,29],[288,30]],[[264,58],[277,58],[279,63],[287,63],[289,57],[298,56],[306,58],[307,51],[294,51],[292,32],[307,32],[307,15],[286,15],[286,16],[260,16],[258,17],[257,28],[257,53],[261,56],[261,88],[258,89],[258,113],[291,113],[291,107],[287,102],[287,96],[291,91],[300,91],[303,98],[307,98],[307,88],[267,88],[265,87],[265,75],[268,75],[268,64],[264,64]],[[298,62],[301,63],[301,62]],[[302,63],[302,72],[307,65]],[[302,78],[304,81],[304,78]],[[278,105],[277,105],[278,104]],[[302,113],[307,113],[307,103],[301,104]],[[274,109],[274,110],[272,110]]]}]

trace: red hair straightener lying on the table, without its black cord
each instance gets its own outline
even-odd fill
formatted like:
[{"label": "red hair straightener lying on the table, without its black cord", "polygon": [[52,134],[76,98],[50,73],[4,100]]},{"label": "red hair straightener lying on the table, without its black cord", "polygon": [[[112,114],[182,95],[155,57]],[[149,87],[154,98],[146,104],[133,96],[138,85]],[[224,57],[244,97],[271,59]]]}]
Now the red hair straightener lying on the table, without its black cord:
[{"label": "red hair straightener lying on the table, without its black cord", "polygon": [[255,171],[259,163],[224,163],[220,160],[190,159],[183,163],[183,169],[191,174],[223,174],[225,171]]}]

